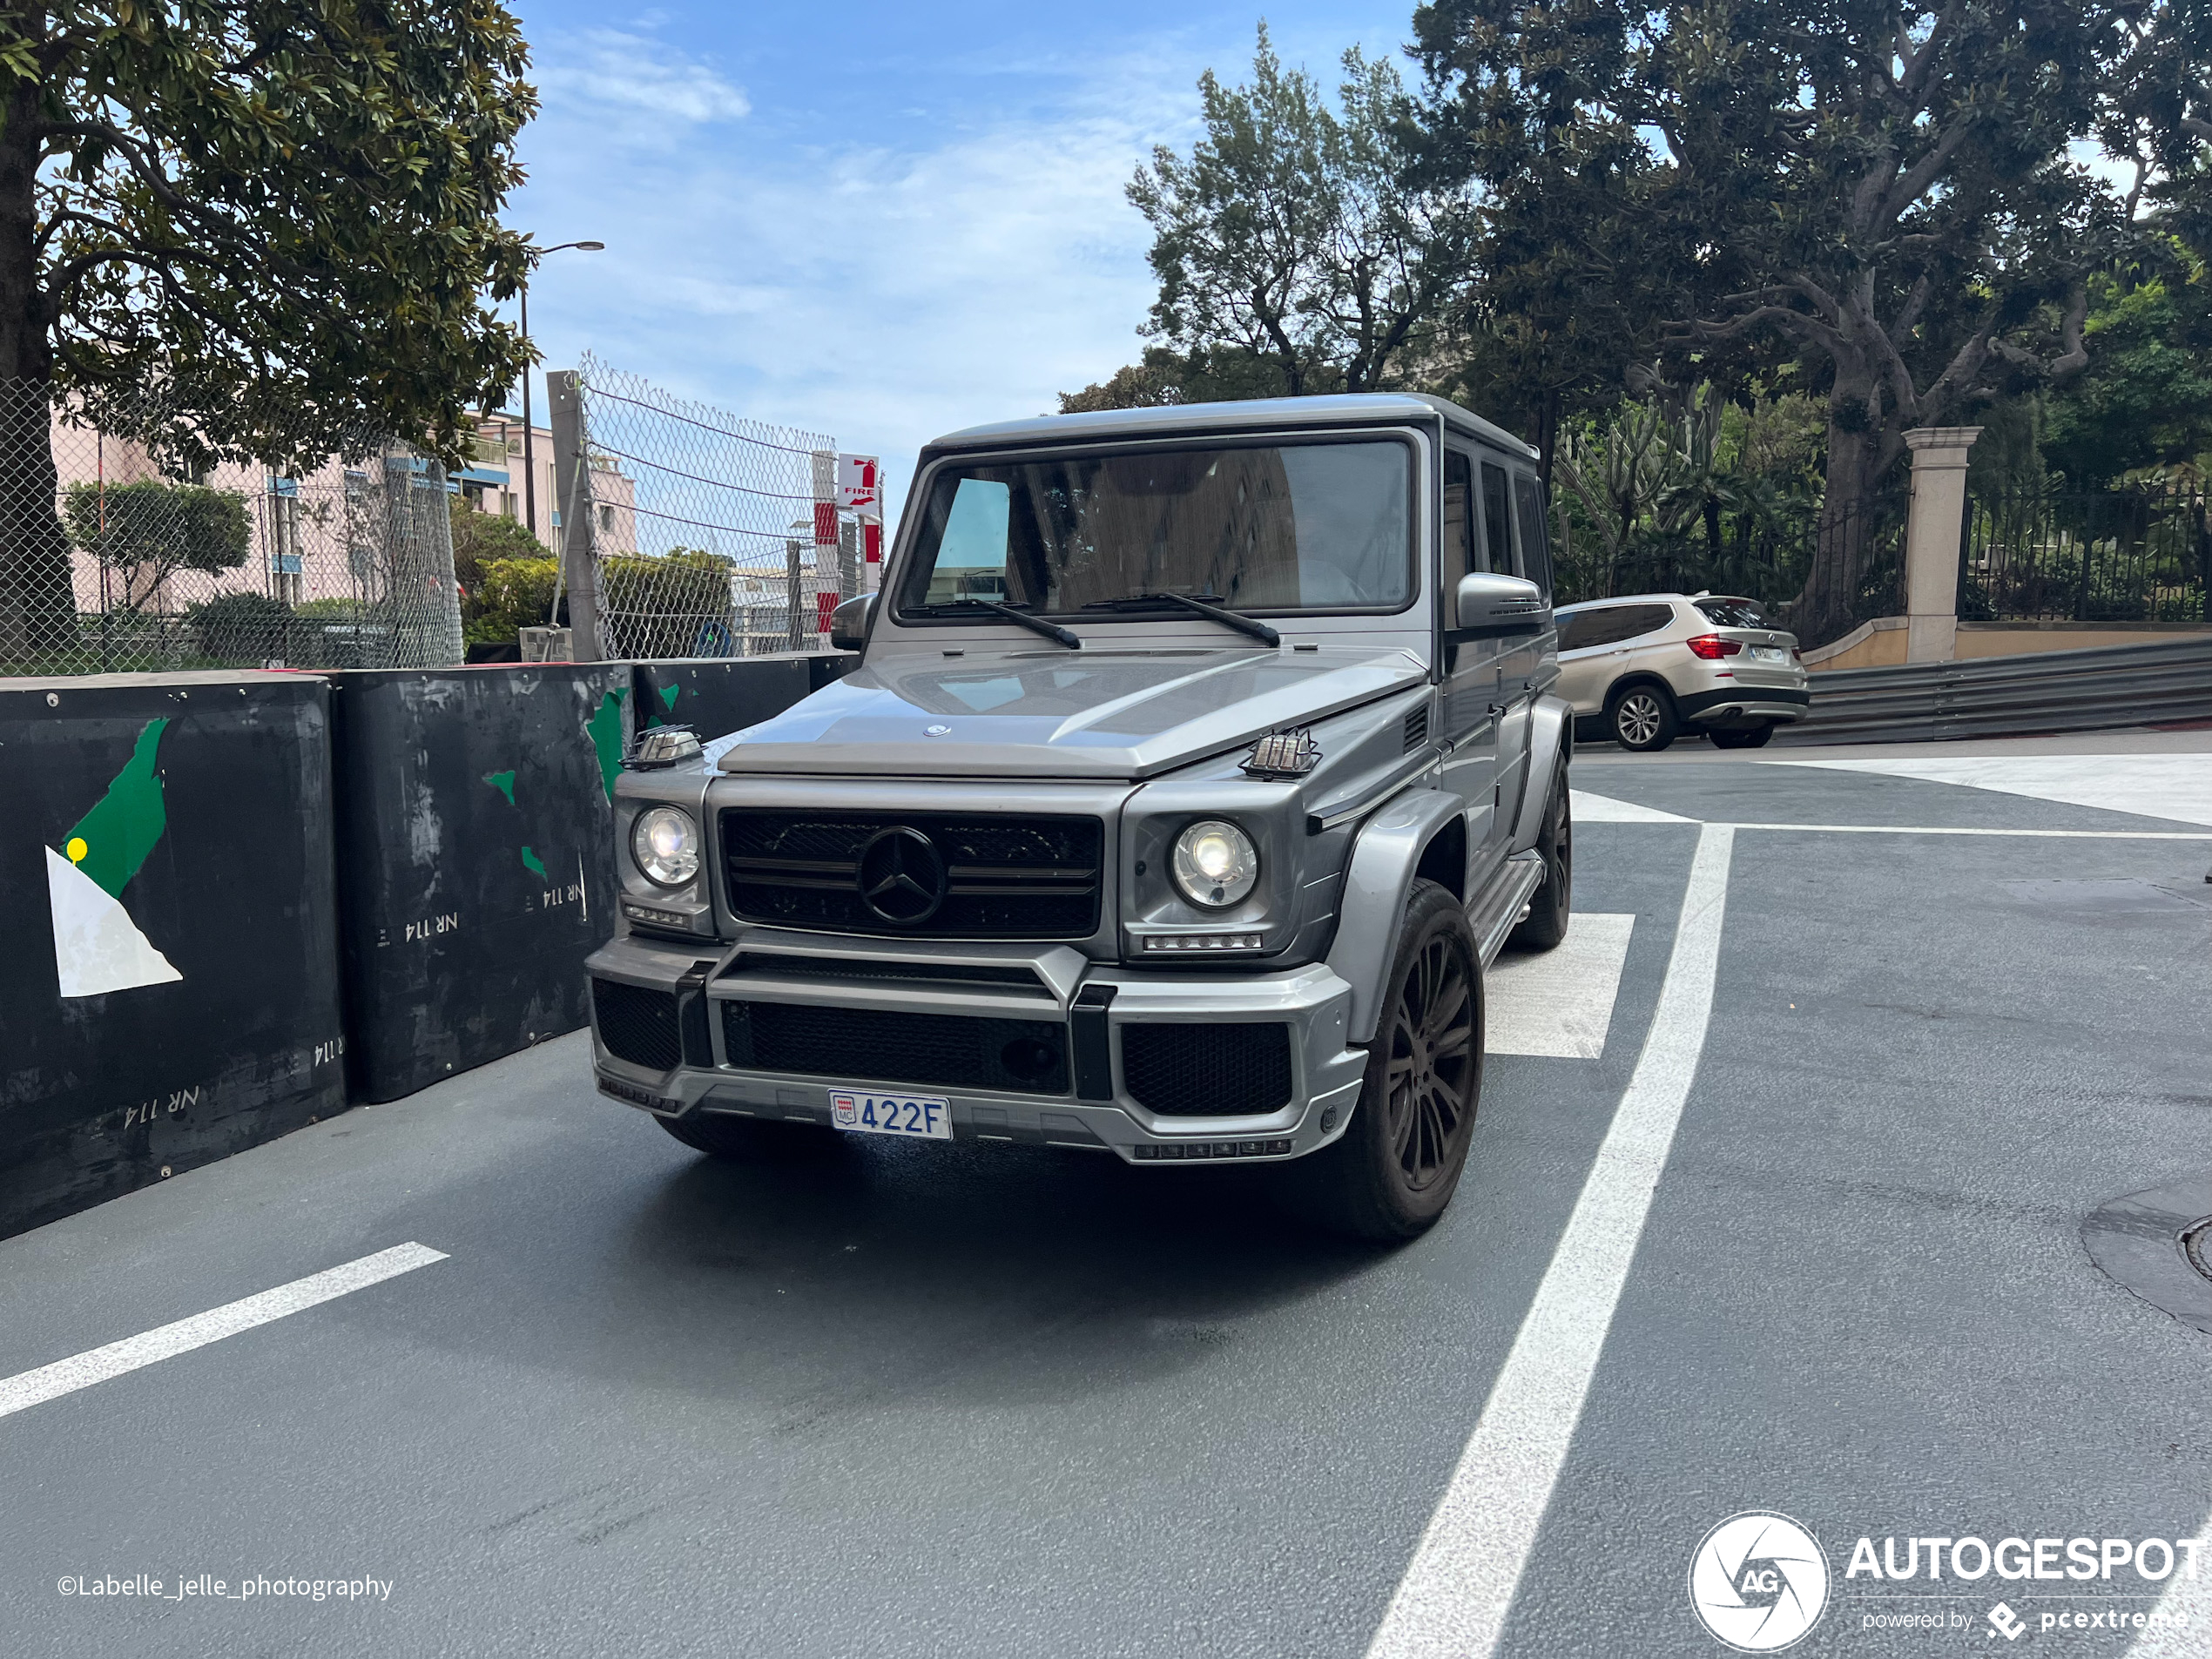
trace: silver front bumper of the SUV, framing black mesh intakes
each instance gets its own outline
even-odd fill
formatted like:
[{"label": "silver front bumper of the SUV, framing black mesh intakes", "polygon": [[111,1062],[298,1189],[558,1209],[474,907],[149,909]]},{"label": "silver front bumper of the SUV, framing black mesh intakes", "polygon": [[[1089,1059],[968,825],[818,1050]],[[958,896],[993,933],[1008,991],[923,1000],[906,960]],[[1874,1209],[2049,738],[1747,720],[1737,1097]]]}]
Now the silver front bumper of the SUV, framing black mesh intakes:
[{"label": "silver front bumper of the SUV, framing black mesh intakes", "polygon": [[[706,942],[701,942],[706,945]],[[1000,978],[1033,975],[1033,987],[969,989],[845,978],[779,978],[763,958],[805,958],[825,971],[852,973],[880,962],[907,973],[989,969]],[[1285,971],[1168,975],[1099,964],[1068,947],[905,945],[825,933],[745,929],[737,945],[659,942],[644,936],[611,940],[586,962],[593,980],[672,998],[681,1060],[639,1064],[608,1046],[602,995],[593,995],[593,1066],[599,1091],[661,1117],[714,1113],[830,1126],[832,1088],[931,1095],[949,1102],[953,1139],[1108,1150],[1130,1164],[1281,1161],[1327,1146],[1352,1119],[1367,1051],[1345,1042],[1352,987],[1325,964]],[[1066,1075],[1055,1093],[1031,1088],[947,1086],[911,1077],[865,1075],[849,1055],[790,1055],[781,1068],[732,1064],[723,1004],[799,1004],[841,1015],[953,1015],[967,1020],[1057,1024],[1066,1031]],[[1287,1099],[1261,1113],[1159,1113],[1130,1093],[1124,1033],[1133,1026],[1281,1024],[1287,1029]],[[1099,1037],[1104,1035],[1104,1046]],[[617,1046],[637,1046],[622,1037]]]}]

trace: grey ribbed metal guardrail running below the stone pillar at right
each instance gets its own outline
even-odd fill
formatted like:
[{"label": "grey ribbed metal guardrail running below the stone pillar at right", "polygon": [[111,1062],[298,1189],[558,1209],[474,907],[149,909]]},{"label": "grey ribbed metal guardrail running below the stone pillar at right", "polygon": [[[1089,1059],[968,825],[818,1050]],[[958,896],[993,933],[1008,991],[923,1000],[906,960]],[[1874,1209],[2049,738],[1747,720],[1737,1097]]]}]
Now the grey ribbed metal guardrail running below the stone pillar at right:
[{"label": "grey ribbed metal guardrail running below the stone pillar at right", "polygon": [[1812,677],[1803,743],[2095,732],[2212,719],[2212,633]]}]

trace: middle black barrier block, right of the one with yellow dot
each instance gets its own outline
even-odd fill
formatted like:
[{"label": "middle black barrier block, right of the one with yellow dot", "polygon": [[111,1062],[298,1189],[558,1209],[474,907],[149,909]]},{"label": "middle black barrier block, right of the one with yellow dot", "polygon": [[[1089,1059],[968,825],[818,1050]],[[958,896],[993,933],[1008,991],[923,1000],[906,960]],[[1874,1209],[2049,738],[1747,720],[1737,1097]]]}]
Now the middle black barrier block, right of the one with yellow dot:
[{"label": "middle black barrier block, right of the one with yellow dot", "polygon": [[396,1099],[586,1022],[630,664],[332,675],[347,1075]]}]

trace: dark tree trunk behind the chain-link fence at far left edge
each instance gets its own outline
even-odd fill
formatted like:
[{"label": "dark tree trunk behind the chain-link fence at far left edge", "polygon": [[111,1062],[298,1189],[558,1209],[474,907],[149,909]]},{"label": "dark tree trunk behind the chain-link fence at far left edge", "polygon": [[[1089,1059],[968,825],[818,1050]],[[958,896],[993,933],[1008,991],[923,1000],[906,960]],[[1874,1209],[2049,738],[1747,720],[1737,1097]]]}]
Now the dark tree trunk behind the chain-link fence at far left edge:
[{"label": "dark tree trunk behind the chain-link fence at far left edge", "polygon": [[38,281],[38,84],[18,80],[0,104],[0,672],[64,666],[77,650]]}]

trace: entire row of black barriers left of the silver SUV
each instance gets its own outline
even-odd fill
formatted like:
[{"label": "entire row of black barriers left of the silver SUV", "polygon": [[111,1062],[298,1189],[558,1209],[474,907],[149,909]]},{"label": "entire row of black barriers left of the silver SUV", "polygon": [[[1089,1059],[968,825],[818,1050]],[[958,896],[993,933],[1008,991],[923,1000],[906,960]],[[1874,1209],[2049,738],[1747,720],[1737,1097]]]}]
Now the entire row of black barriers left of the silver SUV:
[{"label": "entire row of black barriers left of the silver SUV", "polygon": [[0,681],[0,1234],[586,1024],[639,703],[849,666]]}]

